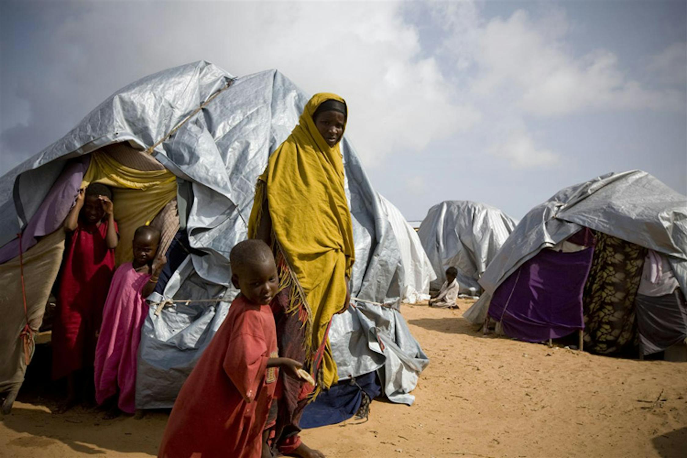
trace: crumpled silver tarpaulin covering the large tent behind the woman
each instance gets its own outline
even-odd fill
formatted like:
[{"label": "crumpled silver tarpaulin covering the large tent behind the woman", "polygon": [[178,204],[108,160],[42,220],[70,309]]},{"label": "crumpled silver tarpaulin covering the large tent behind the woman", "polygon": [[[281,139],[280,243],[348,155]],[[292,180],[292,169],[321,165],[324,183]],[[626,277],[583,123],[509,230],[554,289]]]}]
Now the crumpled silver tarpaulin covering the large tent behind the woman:
[{"label": "crumpled silver tarpaulin covering the large tent behind the woman", "polygon": [[[87,173],[78,163],[92,152],[102,152],[113,144],[128,145],[174,174],[178,225],[188,235],[192,251],[172,273],[159,299],[188,302],[150,310],[142,332],[137,407],[172,405],[183,380],[224,319],[236,295],[229,284],[229,251],[246,237],[257,176],[269,154],[291,133],[307,100],[303,91],[275,70],[235,78],[209,62],[182,65],[120,89],[65,137],[0,179],[0,247],[12,244],[18,249],[16,234],[36,226],[34,217],[45,219],[41,206],[46,198],[62,196],[58,206],[66,216],[75,195],[74,184]],[[354,110],[352,107],[352,116]],[[368,301],[398,303],[404,289],[398,240],[347,137],[341,141],[341,152],[356,245],[352,292]],[[134,163],[143,162],[139,158],[126,166],[142,170]],[[54,183],[63,181],[67,184],[58,192],[51,191]],[[159,184],[166,183],[163,180]],[[63,218],[54,218],[49,228],[40,227],[36,235],[58,230]],[[14,301],[0,303],[3,310],[17,306]],[[34,306],[41,308],[43,304]],[[341,314],[337,320],[354,322],[355,313]],[[420,358],[426,364],[427,358],[403,317],[396,310],[370,305],[366,318],[381,334],[394,323],[393,332],[385,335],[392,336],[394,342],[413,341],[414,347],[385,345],[381,353],[372,355],[370,347],[382,338],[362,331],[354,335],[333,333],[333,345],[348,345],[352,358],[390,361],[387,378],[396,382],[387,386],[410,391],[414,385],[407,382],[413,378],[405,371],[421,368],[397,361]],[[2,326],[2,332],[14,333],[16,323]],[[357,340],[349,345],[337,339]],[[411,353],[396,354],[404,350]],[[14,354],[15,347],[1,351],[4,359]],[[348,360],[337,363],[342,367],[352,364]],[[16,380],[23,379],[24,369],[14,368],[14,374],[19,374]],[[16,384],[12,387],[18,388]],[[394,398],[393,392],[387,394]]]}]

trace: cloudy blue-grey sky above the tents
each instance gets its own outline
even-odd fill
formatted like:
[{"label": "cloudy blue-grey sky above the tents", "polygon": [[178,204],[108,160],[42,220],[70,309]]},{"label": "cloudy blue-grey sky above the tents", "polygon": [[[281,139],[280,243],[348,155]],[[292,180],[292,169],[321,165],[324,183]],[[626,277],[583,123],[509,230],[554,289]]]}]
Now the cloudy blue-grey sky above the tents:
[{"label": "cloudy blue-grey sky above the tents", "polygon": [[687,194],[685,1],[3,0],[0,40],[0,174],[129,82],[209,60],[343,95],[409,220],[449,199],[521,218],[635,168]]}]

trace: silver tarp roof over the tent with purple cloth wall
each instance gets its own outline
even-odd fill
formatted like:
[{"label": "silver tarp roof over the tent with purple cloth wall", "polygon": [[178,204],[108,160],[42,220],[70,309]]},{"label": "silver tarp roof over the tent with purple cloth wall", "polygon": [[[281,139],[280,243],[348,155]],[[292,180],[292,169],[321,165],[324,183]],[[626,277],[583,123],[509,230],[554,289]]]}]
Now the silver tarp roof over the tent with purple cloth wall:
[{"label": "silver tarp roof over the tent with purple cloth wall", "polygon": [[583,227],[666,255],[687,291],[687,198],[651,174],[631,170],[566,187],[531,209],[482,275],[486,294],[464,317],[482,323],[491,295],[510,274]]}]

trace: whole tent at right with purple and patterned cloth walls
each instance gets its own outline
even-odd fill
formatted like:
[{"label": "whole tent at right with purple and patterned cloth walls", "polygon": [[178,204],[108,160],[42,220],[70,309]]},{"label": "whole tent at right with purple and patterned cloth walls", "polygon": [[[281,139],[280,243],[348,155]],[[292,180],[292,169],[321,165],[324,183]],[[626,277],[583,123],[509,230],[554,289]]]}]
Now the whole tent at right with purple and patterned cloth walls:
[{"label": "whole tent at right with purple and patterned cloth walls", "polygon": [[[667,289],[653,295],[661,282]],[[567,187],[530,210],[480,284],[486,294],[466,316],[488,313],[523,341],[583,329],[585,349],[599,354],[681,344],[687,198],[638,170]]]}]

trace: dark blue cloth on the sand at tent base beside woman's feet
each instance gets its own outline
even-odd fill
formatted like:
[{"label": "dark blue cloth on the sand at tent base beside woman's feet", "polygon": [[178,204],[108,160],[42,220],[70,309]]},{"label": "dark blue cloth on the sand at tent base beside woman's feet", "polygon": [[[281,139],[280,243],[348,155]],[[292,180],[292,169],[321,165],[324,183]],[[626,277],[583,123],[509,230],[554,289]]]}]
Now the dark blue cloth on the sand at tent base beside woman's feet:
[{"label": "dark blue cloth on the sand at tent base beside woman's feet", "polygon": [[[360,408],[363,391],[370,399],[380,395],[382,389],[377,381],[376,372],[358,376],[352,380],[341,380],[330,389],[322,391],[314,402],[306,406],[300,420],[300,427],[317,428],[327,424],[336,424],[348,420]],[[357,383],[357,385],[356,385]]]}]

